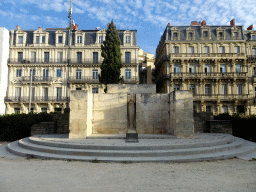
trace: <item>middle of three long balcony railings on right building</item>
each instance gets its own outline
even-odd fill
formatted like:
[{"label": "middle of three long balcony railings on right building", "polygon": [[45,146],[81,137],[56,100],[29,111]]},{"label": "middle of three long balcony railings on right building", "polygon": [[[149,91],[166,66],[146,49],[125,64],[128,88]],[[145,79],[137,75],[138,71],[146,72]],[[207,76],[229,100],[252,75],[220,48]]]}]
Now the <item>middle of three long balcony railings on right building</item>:
[{"label": "middle of three long balcony railings on right building", "polygon": [[166,75],[166,78],[234,78],[234,77],[246,77],[247,72],[209,72],[209,73],[170,73]]}]

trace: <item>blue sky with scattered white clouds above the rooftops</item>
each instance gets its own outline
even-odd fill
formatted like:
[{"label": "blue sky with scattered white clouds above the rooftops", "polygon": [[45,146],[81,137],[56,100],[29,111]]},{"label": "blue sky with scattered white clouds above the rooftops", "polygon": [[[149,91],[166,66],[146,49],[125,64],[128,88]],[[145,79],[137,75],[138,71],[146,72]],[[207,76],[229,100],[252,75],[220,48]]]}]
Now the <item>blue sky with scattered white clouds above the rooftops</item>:
[{"label": "blue sky with scattered white clouds above the rooftops", "polygon": [[[256,0],[73,0],[73,20],[78,29],[137,30],[137,44],[155,55],[166,26],[256,24]],[[0,27],[16,29],[65,28],[69,25],[69,0],[0,0]],[[256,29],[256,25],[255,29]]]}]

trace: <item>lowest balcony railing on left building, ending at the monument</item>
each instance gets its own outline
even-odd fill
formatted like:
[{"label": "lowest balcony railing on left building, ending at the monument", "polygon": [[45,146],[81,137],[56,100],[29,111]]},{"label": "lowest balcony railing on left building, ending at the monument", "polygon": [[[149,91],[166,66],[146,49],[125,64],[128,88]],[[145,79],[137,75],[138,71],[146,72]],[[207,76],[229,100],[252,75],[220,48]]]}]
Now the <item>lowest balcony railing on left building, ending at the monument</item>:
[{"label": "lowest balcony railing on left building, ending at the monument", "polygon": [[[5,102],[29,102],[29,97],[5,97]],[[69,97],[54,97],[54,96],[38,96],[38,97],[31,97],[31,102],[68,102]]]}]

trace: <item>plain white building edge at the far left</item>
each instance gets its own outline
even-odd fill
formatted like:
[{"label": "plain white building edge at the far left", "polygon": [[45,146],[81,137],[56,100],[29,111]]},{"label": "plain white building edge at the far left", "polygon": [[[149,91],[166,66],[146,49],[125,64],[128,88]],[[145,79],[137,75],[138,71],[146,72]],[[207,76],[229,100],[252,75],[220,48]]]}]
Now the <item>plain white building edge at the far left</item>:
[{"label": "plain white building edge at the far left", "polygon": [[7,59],[9,55],[9,32],[6,28],[0,27],[0,115],[5,114],[4,97],[7,90]]}]

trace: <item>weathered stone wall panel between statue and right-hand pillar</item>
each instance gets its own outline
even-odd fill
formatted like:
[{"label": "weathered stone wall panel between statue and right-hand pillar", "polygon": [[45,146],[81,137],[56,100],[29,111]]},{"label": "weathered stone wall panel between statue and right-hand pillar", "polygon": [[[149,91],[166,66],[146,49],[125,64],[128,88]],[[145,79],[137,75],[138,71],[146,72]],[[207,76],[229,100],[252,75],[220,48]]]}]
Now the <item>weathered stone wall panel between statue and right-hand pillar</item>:
[{"label": "weathered stone wall panel between statue and right-hand pillar", "polygon": [[169,94],[136,94],[137,133],[167,133],[169,110]]}]

